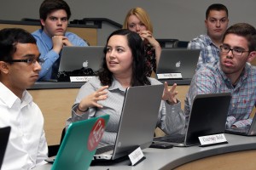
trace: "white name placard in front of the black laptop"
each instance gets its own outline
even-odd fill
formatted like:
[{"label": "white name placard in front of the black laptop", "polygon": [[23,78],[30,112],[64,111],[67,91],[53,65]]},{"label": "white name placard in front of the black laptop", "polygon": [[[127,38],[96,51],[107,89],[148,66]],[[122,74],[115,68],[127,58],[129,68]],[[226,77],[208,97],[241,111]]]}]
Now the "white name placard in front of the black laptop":
[{"label": "white name placard in front of the black laptop", "polygon": [[227,142],[227,139],[225,138],[224,133],[201,136],[201,137],[198,137],[198,139],[200,140],[201,145],[218,144],[218,143]]}]

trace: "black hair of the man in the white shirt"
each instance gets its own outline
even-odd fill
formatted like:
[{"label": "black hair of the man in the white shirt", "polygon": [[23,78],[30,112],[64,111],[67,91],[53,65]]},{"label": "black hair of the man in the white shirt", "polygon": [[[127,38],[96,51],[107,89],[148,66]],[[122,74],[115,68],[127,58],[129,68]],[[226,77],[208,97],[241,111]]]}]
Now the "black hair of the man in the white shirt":
[{"label": "black hair of the man in the white shirt", "polygon": [[5,28],[0,31],[0,60],[11,60],[16,52],[17,43],[37,44],[31,33],[21,28]]}]

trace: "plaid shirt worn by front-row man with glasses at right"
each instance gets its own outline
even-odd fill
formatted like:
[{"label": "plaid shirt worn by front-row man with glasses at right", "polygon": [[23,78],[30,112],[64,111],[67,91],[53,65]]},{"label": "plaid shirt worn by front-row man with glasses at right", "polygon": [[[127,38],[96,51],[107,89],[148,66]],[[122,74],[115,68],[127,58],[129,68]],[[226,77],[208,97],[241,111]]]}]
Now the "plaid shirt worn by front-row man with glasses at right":
[{"label": "plaid shirt worn by front-row man with glasses at right", "polygon": [[219,62],[202,66],[196,71],[185,99],[186,117],[189,116],[196,94],[213,93],[231,93],[228,116],[235,117],[235,125],[239,127],[249,125],[251,123],[250,113],[256,105],[256,67],[247,64],[234,87],[221,70]]}]

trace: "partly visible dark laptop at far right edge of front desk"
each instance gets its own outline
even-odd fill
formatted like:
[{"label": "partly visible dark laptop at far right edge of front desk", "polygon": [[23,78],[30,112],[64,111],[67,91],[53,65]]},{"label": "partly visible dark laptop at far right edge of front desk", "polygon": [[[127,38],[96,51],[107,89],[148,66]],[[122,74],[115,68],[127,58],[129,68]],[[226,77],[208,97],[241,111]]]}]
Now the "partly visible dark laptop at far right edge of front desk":
[{"label": "partly visible dark laptop at far right edge of front desk", "polygon": [[256,135],[256,116],[253,116],[253,122],[251,126],[247,127],[230,127],[225,130],[225,133],[238,134],[243,136],[255,136]]}]

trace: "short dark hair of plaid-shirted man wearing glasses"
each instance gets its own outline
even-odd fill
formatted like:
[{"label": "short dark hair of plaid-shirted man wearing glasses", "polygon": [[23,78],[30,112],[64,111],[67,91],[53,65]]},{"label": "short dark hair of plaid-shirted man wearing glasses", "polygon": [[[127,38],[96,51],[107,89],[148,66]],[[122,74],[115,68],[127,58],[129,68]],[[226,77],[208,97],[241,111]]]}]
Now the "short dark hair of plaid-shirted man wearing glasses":
[{"label": "short dark hair of plaid-shirted man wearing glasses", "polygon": [[245,37],[248,42],[249,52],[256,50],[256,30],[253,26],[247,23],[237,23],[230,26],[224,33],[223,42],[228,34],[236,34],[237,36]]}]

